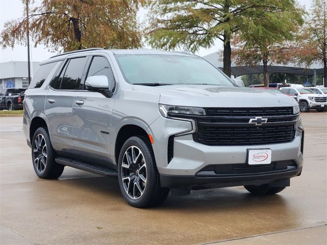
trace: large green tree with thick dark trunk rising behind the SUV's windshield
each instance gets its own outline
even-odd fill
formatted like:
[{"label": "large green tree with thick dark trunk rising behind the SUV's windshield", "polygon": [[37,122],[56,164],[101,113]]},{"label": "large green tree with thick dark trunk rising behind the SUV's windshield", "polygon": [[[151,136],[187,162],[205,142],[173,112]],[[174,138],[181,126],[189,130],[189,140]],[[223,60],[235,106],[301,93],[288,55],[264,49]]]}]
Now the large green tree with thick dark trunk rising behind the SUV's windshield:
[{"label": "large green tree with thick dark trunk rising behind the SUV's windshield", "polygon": [[292,26],[288,17],[298,18],[297,11],[294,0],[152,1],[147,41],[156,48],[172,50],[186,46],[196,52],[220,39],[224,42],[223,71],[230,76],[233,35],[240,33],[245,37],[248,33],[261,39],[268,35],[275,40],[280,31]]}]

